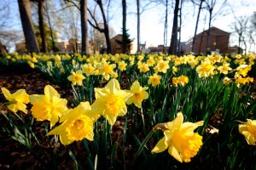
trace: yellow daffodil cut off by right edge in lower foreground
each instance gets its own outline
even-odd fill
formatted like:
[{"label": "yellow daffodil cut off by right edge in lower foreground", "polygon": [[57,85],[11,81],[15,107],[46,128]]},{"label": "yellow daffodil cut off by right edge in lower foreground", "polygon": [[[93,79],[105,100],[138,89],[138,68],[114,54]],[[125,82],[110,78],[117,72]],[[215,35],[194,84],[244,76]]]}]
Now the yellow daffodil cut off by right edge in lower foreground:
[{"label": "yellow daffodil cut off by right edge in lower foreground", "polygon": [[256,120],[247,119],[247,122],[240,124],[238,129],[246,138],[247,144],[256,145]]}]

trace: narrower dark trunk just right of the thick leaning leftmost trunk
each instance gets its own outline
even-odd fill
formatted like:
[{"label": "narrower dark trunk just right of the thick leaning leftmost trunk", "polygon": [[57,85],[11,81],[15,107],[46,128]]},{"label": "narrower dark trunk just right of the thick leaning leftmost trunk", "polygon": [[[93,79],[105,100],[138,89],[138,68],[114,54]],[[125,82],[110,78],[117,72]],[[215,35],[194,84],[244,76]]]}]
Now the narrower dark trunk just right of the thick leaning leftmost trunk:
[{"label": "narrower dark trunk just right of the thick leaning leftmost trunk", "polygon": [[48,53],[45,29],[44,29],[44,0],[38,0],[38,19],[39,19],[40,37],[42,39],[41,51],[44,53]]}]

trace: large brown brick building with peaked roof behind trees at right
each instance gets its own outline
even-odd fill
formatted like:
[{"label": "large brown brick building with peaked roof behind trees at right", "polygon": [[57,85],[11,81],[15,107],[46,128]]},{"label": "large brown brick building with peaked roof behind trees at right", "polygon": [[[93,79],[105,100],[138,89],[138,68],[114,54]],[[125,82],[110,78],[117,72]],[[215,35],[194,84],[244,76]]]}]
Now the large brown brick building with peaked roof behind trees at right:
[{"label": "large brown brick building with peaked roof behind trees at right", "polygon": [[[230,33],[227,31],[220,30],[214,26],[211,27],[209,29],[209,46],[207,47],[207,31],[202,31],[201,33],[195,36],[195,48],[193,53],[207,54],[212,51],[218,51],[219,54],[228,54]],[[189,54],[192,52],[192,41],[193,38],[186,42],[184,48],[185,54]]]}]

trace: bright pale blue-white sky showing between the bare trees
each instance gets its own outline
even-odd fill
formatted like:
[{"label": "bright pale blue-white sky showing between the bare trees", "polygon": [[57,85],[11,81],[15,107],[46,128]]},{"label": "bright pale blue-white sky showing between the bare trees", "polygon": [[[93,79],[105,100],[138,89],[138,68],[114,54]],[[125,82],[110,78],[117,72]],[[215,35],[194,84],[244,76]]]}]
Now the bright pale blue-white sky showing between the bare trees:
[{"label": "bright pale blue-white sky showing between the bare trees", "polygon": [[[9,1],[11,6],[10,23],[8,30],[21,30],[20,14],[18,10],[18,4],[16,0],[0,0]],[[88,0],[90,3],[92,0]],[[136,0],[126,0],[127,1],[127,28],[131,39],[137,42],[137,15],[136,15]],[[142,3],[145,3],[141,0]],[[219,8],[219,2],[223,0],[217,0],[218,4],[214,8],[213,13],[215,13]],[[232,32],[232,23],[235,21],[235,16],[239,17],[242,15],[252,15],[255,11],[256,0],[228,0],[228,4],[232,6],[234,13],[230,6],[224,8],[225,16],[216,17],[212,21],[212,26],[218,27],[224,31]],[[173,4],[172,4],[173,6]],[[195,20],[197,14],[197,6],[192,5],[192,3],[183,3],[183,22],[181,28],[181,41],[186,42],[194,35],[195,31]],[[112,8],[113,17],[109,21],[109,26],[113,28],[116,34],[121,33],[122,27],[122,8],[120,0],[113,0]],[[172,32],[172,17],[173,8],[170,8],[168,17],[168,42],[170,44],[171,32]],[[157,46],[163,44],[163,32],[164,32],[164,14],[165,7],[163,5],[158,5],[154,8],[149,8],[141,14],[141,43],[146,42],[147,47]],[[202,11],[201,20],[198,28],[198,33],[207,30],[207,24],[203,20],[207,16],[207,10]],[[0,16],[1,18],[1,16]],[[1,20],[1,19],[0,19]],[[234,40],[232,40],[234,42]],[[235,42],[236,43],[236,42]]]}]

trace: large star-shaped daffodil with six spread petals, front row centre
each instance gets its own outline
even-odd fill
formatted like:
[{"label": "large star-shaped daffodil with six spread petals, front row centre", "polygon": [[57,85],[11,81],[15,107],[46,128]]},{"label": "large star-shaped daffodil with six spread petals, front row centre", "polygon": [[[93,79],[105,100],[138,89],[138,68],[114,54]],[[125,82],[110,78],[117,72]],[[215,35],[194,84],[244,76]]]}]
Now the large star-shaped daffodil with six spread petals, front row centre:
[{"label": "large star-shaped daffodil with six spread petals, front row centre", "polygon": [[127,108],[125,102],[131,93],[120,89],[119,82],[111,79],[105,88],[95,88],[95,102],[92,110],[104,116],[110,125],[113,125],[117,116],[125,116]]}]

